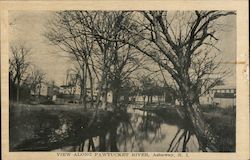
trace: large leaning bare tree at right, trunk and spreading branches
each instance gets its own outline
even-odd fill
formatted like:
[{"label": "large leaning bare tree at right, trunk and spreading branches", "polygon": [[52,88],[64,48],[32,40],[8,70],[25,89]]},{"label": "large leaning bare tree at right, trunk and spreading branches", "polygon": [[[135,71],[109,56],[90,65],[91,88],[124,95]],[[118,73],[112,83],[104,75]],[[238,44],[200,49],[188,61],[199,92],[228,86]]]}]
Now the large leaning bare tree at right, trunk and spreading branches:
[{"label": "large leaning bare tree at right, trunk and spreading branches", "polygon": [[[220,79],[210,78],[212,74],[225,73],[217,61],[216,31],[221,26],[216,20],[232,14],[235,13],[143,11],[140,12],[142,18],[135,20],[141,31],[134,33],[142,41],[134,47],[152,58],[175,80],[186,118],[203,151],[216,150],[216,140],[199,110],[199,96],[202,86],[209,89]],[[145,48],[145,44],[148,47]]]}]

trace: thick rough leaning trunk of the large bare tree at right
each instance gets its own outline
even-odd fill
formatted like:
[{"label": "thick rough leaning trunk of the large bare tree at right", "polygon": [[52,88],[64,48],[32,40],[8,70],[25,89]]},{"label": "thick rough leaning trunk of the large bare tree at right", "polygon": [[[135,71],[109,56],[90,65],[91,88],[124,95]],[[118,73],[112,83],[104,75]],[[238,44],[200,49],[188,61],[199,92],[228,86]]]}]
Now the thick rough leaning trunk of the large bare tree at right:
[{"label": "thick rough leaning trunk of the large bare tree at right", "polygon": [[197,137],[200,150],[217,151],[215,136],[211,133],[203,113],[199,109],[199,87],[192,84],[186,68],[182,68],[180,73],[182,73],[180,75],[181,81],[178,83],[181,92],[180,103],[184,107],[185,118]]}]

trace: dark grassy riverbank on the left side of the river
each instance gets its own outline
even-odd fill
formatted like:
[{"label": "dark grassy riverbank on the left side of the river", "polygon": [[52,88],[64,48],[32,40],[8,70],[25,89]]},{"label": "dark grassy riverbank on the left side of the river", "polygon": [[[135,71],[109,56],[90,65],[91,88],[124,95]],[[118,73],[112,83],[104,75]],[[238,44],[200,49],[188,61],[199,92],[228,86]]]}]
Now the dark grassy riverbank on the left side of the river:
[{"label": "dark grassy riverbank on the left side of the river", "polygon": [[75,104],[12,104],[9,115],[10,151],[49,151],[76,145],[93,133],[108,130],[113,123],[110,117],[114,117],[99,109],[94,118],[94,109]]}]

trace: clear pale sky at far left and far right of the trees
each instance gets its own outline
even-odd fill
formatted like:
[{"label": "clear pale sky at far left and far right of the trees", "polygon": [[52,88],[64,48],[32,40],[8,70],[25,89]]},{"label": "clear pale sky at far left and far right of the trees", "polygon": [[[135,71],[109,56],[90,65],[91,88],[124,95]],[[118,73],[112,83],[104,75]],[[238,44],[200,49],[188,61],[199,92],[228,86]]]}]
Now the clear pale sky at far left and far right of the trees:
[{"label": "clear pale sky at far left and far right of the trees", "polygon": [[[57,85],[65,81],[66,70],[71,67],[67,57],[59,56],[55,46],[49,44],[44,37],[51,11],[10,11],[9,12],[9,37],[10,43],[24,41],[31,48],[29,61],[41,68],[46,73],[47,80],[54,80]],[[226,84],[235,83],[236,59],[236,16],[227,16],[220,20],[226,28],[219,32],[218,48],[221,51],[224,65],[231,70],[225,80]]]}]

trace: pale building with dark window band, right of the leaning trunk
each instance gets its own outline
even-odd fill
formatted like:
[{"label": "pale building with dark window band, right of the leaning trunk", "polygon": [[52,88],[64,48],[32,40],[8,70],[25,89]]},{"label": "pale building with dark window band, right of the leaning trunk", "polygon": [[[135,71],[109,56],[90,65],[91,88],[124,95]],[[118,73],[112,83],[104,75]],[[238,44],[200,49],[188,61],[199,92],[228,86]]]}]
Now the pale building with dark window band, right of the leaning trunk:
[{"label": "pale building with dark window band, right of the leaning trunk", "polygon": [[206,91],[200,97],[201,104],[217,105],[219,107],[230,107],[236,105],[236,86],[219,85]]}]

